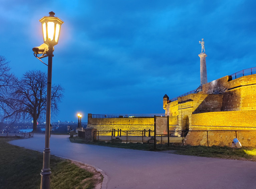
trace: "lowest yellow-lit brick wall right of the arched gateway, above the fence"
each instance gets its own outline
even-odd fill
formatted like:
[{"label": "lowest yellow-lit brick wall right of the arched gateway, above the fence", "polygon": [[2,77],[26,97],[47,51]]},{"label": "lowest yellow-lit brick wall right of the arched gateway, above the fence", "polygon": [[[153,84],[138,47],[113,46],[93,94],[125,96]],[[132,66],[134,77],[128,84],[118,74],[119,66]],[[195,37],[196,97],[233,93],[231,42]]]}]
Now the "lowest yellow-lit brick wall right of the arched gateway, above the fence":
[{"label": "lowest yellow-lit brick wall right of the arched gateway, above the fence", "polygon": [[192,114],[192,130],[256,130],[256,110]]}]

